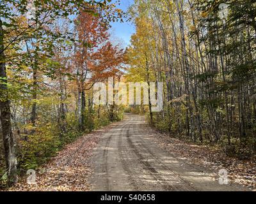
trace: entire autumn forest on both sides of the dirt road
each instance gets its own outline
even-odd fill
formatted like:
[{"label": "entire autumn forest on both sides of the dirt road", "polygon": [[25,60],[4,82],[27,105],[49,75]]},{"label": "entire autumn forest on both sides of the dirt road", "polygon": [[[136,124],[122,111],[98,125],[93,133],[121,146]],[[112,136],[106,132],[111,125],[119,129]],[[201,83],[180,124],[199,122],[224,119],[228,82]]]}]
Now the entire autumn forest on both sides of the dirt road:
[{"label": "entire autumn forest on both sides of the dirt road", "polygon": [[[170,138],[255,161],[256,1],[119,4],[1,1],[0,188],[127,113]],[[111,36],[111,22],[125,20],[135,27],[127,47]],[[109,78],[113,87],[163,83],[163,110],[95,105],[93,86]]]}]

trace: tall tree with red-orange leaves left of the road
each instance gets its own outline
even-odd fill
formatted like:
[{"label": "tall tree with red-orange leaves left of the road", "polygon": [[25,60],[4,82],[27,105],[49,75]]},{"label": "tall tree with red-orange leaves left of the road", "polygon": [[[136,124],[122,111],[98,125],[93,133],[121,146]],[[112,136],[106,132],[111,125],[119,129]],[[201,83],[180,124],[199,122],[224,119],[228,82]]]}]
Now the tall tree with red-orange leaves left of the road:
[{"label": "tall tree with red-orange leaves left of the road", "polygon": [[102,22],[100,15],[82,12],[76,22],[77,43],[73,64],[77,76],[77,112],[81,129],[84,129],[86,91],[90,91],[96,82],[115,76],[123,60],[123,50],[111,45],[108,25]]}]

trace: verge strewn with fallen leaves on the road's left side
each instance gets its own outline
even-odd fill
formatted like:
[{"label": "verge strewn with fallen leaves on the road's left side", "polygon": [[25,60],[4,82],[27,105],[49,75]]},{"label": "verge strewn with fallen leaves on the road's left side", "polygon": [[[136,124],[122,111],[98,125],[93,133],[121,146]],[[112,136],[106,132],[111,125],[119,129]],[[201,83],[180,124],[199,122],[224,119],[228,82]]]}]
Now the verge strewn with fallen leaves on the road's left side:
[{"label": "verge strewn with fallen leaves on the road's left side", "polygon": [[88,161],[100,136],[109,128],[111,126],[93,131],[67,145],[36,171],[36,185],[29,185],[26,178],[21,178],[9,191],[89,191],[87,180],[92,169]]}]

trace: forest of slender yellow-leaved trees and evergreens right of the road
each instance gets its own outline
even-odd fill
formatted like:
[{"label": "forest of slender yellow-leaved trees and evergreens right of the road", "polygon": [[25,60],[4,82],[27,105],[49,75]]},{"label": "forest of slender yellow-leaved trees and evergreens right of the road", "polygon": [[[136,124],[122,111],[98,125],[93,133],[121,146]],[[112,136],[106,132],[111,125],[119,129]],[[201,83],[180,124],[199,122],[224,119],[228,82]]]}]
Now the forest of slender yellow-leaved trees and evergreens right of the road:
[{"label": "forest of slender yellow-leaved trees and evergreens right of the road", "polygon": [[[223,144],[227,154],[252,156],[256,2],[149,0],[135,5],[127,80],[164,83],[164,110],[149,113],[150,123],[180,138]],[[145,112],[143,106],[131,109]]]}]

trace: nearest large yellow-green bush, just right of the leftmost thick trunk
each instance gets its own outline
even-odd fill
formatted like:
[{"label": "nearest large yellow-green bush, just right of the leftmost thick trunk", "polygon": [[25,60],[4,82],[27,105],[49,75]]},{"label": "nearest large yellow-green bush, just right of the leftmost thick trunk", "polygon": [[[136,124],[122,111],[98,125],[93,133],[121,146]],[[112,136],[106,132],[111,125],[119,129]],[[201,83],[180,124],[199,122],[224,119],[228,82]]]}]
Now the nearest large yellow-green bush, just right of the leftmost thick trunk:
[{"label": "nearest large yellow-green bush, just right of the leftmost thick trunk", "polygon": [[[74,138],[80,136],[76,131],[69,129],[72,124],[68,124],[67,133],[61,134],[60,128],[56,123],[38,123],[33,128],[33,134],[24,135],[18,145],[19,168],[21,170],[36,169],[40,164],[45,163],[54,156],[60,148]],[[29,126],[26,126],[29,130]]]}]

